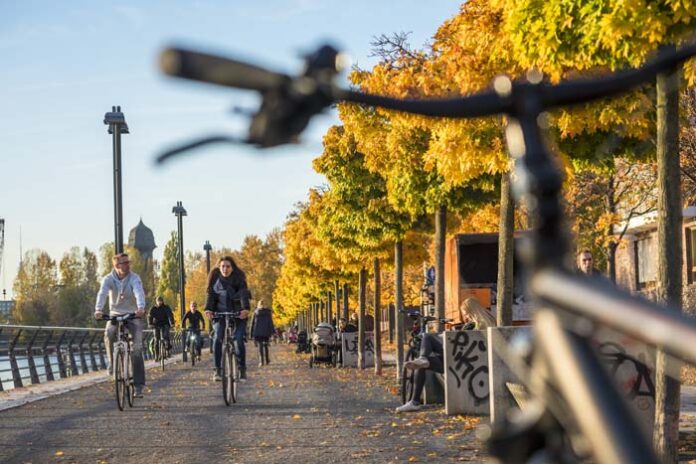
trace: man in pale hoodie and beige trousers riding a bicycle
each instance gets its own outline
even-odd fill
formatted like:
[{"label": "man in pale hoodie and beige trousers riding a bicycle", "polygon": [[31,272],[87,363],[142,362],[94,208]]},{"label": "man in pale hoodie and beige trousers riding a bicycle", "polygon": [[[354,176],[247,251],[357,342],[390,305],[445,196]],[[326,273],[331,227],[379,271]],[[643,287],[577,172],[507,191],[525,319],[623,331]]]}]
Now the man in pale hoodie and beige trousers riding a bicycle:
[{"label": "man in pale hoodie and beige trousers riding a bicycle", "polygon": [[[145,362],[143,360],[143,320],[145,314],[145,291],[140,276],[130,270],[130,259],[126,253],[119,253],[112,258],[113,271],[102,279],[97,302],[94,305],[94,317],[102,318],[102,308],[109,297],[109,315],[111,317],[135,314],[136,319],[126,322],[126,329],[133,337],[133,383],[135,396],[142,398],[145,386]],[[116,341],[117,324],[109,322],[104,331],[104,344],[109,359],[109,373],[112,372],[112,353]]]}]

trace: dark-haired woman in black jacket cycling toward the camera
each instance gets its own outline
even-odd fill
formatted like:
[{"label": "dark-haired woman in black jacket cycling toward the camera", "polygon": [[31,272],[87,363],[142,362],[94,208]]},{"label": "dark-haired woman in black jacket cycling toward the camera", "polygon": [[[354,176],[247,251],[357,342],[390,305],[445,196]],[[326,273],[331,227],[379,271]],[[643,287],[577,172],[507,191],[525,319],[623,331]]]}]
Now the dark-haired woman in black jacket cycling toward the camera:
[{"label": "dark-haired woman in black jacket cycling toward the camera", "polygon": [[[223,256],[218,261],[218,266],[210,271],[208,276],[208,289],[205,300],[205,315],[213,319],[216,312],[238,312],[236,318],[237,328],[234,332],[235,351],[239,360],[240,379],[246,379],[246,348],[244,346],[244,334],[246,333],[246,319],[249,316],[249,290],[247,289],[246,275],[237,267],[231,256]],[[225,334],[226,323],[224,319],[214,324],[215,337],[213,339],[215,374],[213,379],[222,380],[222,338]]]}]

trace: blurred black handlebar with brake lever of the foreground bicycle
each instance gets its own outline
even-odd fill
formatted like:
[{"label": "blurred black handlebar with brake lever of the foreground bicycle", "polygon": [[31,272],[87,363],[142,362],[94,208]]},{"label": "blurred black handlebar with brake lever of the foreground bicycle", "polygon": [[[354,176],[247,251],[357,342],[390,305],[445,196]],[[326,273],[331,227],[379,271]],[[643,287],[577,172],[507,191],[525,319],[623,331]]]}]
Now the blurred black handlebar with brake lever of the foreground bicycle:
[{"label": "blurred black handlebar with brake lever of the foreground bicycle", "polygon": [[[672,68],[696,55],[696,45],[677,51],[660,53],[638,69],[596,79],[576,79],[555,85],[547,83],[512,83],[500,77],[495,90],[449,99],[400,100],[339,88],[335,81],[341,69],[341,54],[324,45],[305,59],[304,72],[296,77],[276,73],[230,58],[209,55],[183,48],[169,48],[160,56],[160,67],[170,76],[207,82],[230,88],[253,90],[262,95],[262,103],[254,114],[245,143],[273,147],[297,141],[310,118],[335,102],[362,103],[426,116],[475,118],[496,114],[522,114],[530,110],[520,107],[513,93],[525,94],[534,88],[542,112],[561,106],[598,100],[628,92],[648,82],[657,73]],[[203,143],[235,141],[225,136],[210,137]],[[186,149],[201,143],[189,144]],[[173,150],[176,154],[183,150]],[[172,153],[160,157],[164,161]]]}]

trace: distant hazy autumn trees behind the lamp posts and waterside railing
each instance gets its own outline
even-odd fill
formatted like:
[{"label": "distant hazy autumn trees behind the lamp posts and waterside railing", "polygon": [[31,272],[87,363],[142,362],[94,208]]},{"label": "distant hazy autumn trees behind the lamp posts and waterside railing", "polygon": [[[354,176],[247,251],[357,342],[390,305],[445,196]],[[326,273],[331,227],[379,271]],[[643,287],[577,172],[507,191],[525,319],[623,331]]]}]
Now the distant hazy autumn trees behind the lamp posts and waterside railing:
[{"label": "distant hazy autumn trees behind the lamp posts and waterside railing", "polygon": [[[140,275],[148,303],[157,295],[176,308],[179,321],[179,268],[176,233],[165,245],[160,263],[142,258],[138,250],[126,246],[131,269]],[[101,277],[113,269],[113,242],[102,245],[99,257],[93,251],[78,247],[70,249],[56,261],[42,250],[30,250],[22,259],[14,280],[15,308],[11,319],[23,325],[94,327],[94,302]],[[272,304],[273,290],[283,261],[280,232],[275,230],[265,239],[245,237],[239,250],[220,248],[212,252],[212,265],[224,255],[234,257],[246,272],[249,287],[256,299]],[[159,275],[156,269],[159,266]],[[205,301],[207,268],[205,256],[188,252],[185,259],[187,301]]]}]

